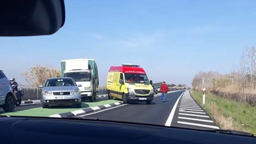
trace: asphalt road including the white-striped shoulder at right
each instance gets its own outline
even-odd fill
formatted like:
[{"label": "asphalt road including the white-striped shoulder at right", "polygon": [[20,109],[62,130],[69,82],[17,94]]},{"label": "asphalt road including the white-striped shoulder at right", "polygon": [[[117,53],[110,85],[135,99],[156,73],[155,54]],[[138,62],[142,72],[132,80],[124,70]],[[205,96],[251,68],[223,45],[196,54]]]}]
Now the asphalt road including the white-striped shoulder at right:
[{"label": "asphalt road including the white-striped shoulder at right", "polygon": [[151,105],[147,105],[145,102],[134,102],[116,106],[116,108],[76,115],[76,117],[191,129],[218,129],[218,126],[211,120],[209,115],[190,96],[189,91],[167,94],[166,102],[164,103],[161,101],[160,96],[155,97]]}]

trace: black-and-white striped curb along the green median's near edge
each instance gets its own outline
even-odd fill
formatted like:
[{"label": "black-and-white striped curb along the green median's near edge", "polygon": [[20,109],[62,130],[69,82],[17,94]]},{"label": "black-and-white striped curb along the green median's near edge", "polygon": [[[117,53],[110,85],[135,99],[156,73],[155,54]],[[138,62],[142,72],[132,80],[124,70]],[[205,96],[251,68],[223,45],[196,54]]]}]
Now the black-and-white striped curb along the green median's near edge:
[{"label": "black-and-white striped curb along the green median's near edge", "polygon": [[60,114],[50,115],[49,117],[52,117],[52,118],[67,118],[67,117],[75,116],[75,115],[78,115],[78,114],[93,112],[93,111],[96,111],[96,110],[99,110],[99,109],[106,109],[106,108],[109,108],[111,106],[118,106],[118,105],[121,105],[121,104],[123,104],[123,102],[115,102],[115,103],[112,103],[112,104],[105,104],[105,105],[102,105],[102,106],[95,106],[95,107],[91,107],[91,108],[80,109],[80,110],[77,110],[77,111],[71,111],[71,112],[67,112],[67,113],[60,113]]}]

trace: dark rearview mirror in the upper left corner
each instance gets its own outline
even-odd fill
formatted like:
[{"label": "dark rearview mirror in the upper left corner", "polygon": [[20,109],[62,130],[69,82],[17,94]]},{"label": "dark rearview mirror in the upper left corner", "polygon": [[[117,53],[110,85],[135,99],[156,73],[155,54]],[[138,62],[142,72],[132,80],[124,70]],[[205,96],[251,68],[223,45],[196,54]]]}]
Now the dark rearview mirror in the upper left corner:
[{"label": "dark rearview mirror in the upper left corner", "polygon": [[0,17],[0,36],[51,35],[64,25],[64,0],[1,0]]}]

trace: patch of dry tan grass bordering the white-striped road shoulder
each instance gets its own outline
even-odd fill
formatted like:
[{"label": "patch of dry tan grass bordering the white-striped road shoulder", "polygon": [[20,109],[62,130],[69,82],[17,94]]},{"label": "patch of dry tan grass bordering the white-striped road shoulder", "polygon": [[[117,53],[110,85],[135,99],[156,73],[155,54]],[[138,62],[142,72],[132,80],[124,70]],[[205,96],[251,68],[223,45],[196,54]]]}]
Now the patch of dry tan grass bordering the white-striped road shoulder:
[{"label": "patch of dry tan grass bordering the white-striped road shoulder", "polygon": [[221,113],[218,112],[217,106],[211,103],[212,117],[217,122],[221,129],[231,129],[234,130],[232,118],[226,118]]}]

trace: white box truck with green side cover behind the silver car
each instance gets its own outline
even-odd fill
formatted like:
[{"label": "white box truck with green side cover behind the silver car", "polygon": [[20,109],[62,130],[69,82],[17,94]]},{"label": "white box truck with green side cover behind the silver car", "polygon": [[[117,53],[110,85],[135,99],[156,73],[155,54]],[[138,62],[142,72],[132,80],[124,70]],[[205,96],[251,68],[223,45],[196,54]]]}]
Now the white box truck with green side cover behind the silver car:
[{"label": "white box truck with green side cover behind the silver car", "polygon": [[81,99],[95,101],[98,92],[99,77],[94,59],[70,59],[61,61],[62,77],[73,78],[81,92]]}]

